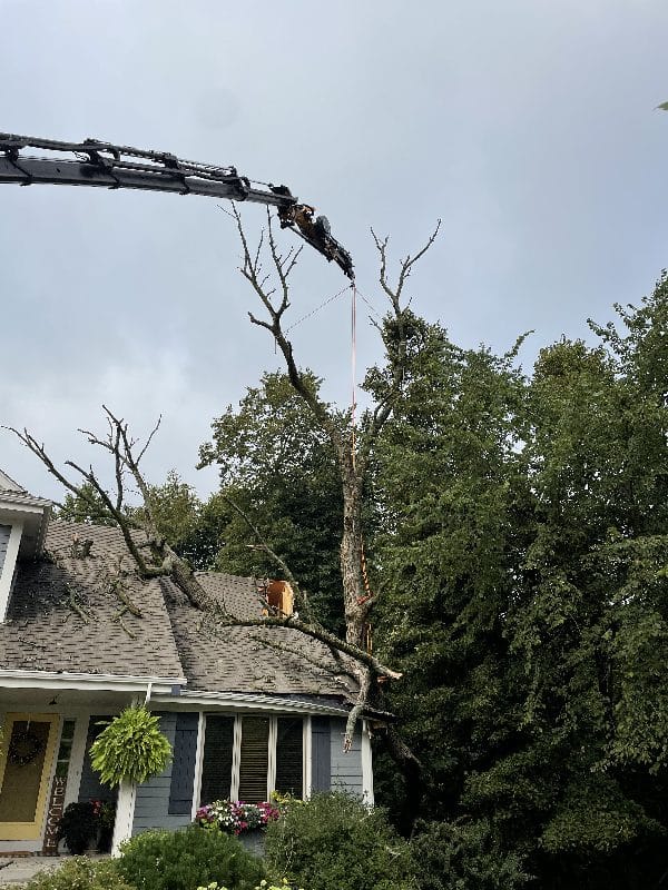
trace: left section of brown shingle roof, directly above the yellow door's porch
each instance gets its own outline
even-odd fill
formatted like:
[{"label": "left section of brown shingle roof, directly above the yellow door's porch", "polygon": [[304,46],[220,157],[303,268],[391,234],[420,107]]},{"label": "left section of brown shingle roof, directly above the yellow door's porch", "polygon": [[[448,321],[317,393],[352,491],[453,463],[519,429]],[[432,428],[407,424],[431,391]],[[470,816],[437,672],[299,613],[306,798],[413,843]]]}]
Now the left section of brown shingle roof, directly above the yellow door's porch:
[{"label": "left section of brown shingle roof, directly above the yellow door's porch", "polygon": [[[88,557],[72,556],[75,535],[94,542]],[[115,528],[55,521],[46,546],[50,558],[19,567],[8,617],[0,624],[1,668],[183,676],[160,584],[141,583],[131,572]],[[109,591],[109,578],[119,561],[128,571],[127,595],[139,606],[140,619],[128,612],[118,615],[122,603]]]}]

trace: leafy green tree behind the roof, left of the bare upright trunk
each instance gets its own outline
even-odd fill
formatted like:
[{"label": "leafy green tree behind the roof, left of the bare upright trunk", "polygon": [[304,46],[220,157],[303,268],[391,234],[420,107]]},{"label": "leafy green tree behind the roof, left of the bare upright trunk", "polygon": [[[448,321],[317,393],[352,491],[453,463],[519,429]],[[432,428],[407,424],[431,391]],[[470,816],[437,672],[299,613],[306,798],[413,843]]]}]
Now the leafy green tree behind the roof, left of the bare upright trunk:
[{"label": "leafy green tree behind the roof, left of the bare upright trunk", "polygon": [[[307,374],[318,392],[320,380]],[[342,423],[344,419],[342,418]],[[237,504],[310,594],[320,620],[342,629],[338,545],[341,479],[332,445],[285,374],[265,374],[238,408],[212,425],[213,442],[200,449],[202,464],[220,468],[220,492],[205,513],[216,514],[224,542],[216,568],[240,575],[278,577],[276,563],[257,544]]]}]

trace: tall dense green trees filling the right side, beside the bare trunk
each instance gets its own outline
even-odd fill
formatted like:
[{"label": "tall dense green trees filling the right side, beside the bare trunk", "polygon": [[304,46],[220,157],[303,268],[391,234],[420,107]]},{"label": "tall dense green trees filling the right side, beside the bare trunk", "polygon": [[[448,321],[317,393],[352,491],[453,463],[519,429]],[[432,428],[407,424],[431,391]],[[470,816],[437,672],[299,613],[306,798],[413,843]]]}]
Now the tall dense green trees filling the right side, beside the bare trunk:
[{"label": "tall dense green trees filling the right side, beside the bare trunk", "polygon": [[478,832],[490,886],[504,862],[544,890],[650,887],[666,868],[667,276],[617,312],[530,378],[512,355],[425,342],[377,455],[376,640],[424,763],[421,787],[379,790],[404,824],[472,844],[453,887],[478,886]]}]

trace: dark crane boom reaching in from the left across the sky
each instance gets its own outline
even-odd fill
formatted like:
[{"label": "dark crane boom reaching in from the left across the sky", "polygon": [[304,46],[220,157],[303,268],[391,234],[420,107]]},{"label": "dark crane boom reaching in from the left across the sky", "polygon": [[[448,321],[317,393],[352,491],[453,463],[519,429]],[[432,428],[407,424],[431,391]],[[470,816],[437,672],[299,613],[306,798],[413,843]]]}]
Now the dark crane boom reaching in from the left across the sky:
[{"label": "dark crane boom reaching in from the left across the sky", "polygon": [[[32,157],[26,149],[38,149],[41,154]],[[292,228],[328,261],[334,260],[348,278],[354,278],[351,255],[331,235],[325,217],[314,217],[315,209],[299,204],[287,186],[269,184],[256,188],[265,184],[240,176],[235,167],[183,160],[168,151],[117,146],[98,139],[62,142],[0,134],[2,184],[132,188],[264,204],[276,208],[283,228]]]}]

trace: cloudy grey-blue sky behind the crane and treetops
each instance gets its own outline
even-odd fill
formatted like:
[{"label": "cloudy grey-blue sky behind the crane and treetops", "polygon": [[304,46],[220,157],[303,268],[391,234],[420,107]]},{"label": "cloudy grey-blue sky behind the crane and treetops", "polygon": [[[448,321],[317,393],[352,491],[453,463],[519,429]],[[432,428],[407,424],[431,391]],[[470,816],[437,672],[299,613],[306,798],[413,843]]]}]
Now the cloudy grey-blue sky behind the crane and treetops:
[{"label": "cloudy grey-blue sky behind the crane and treetops", "polygon": [[[285,182],[328,216],[379,310],[370,226],[399,258],[441,217],[415,308],[464,346],[534,329],[530,366],[668,263],[667,33],[666,0],[0,0],[0,130]],[[244,214],[257,234],[262,208]],[[0,187],[0,423],[89,462],[76,429],[102,427],[102,402],[137,434],[161,413],[149,476],[176,467],[206,494],[213,417],[279,365],[238,255],[207,198]],[[295,320],[345,285],[303,256]],[[379,354],[363,309],[360,372]],[[345,404],[347,297],[294,339]],[[4,433],[0,466],[60,497]]]}]

